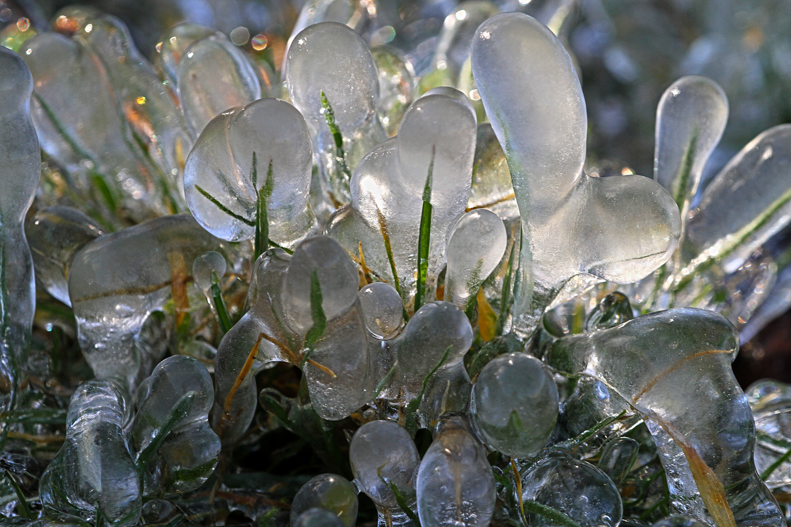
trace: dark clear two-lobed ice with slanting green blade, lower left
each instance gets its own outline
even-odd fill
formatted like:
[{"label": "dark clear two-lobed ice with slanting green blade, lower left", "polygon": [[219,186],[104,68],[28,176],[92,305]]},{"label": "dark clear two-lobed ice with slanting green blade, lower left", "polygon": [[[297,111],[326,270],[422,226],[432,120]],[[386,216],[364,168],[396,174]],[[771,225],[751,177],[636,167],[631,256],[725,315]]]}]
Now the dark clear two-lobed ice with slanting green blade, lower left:
[{"label": "dark clear two-lobed ice with slanting green blade, lower left", "polygon": [[220,439],[209,427],[214,403],[209,372],[190,356],[171,356],[143,386],[128,439],[143,493],[199,487],[214,472],[220,454]]}]

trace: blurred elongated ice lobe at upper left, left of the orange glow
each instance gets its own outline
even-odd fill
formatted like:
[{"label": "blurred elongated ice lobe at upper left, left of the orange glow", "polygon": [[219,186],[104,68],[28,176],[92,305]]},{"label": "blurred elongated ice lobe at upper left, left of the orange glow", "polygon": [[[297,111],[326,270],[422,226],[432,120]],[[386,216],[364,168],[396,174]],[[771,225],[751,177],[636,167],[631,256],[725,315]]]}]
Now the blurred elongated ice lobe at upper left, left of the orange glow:
[{"label": "blurred elongated ice lobe at upper left, left of the orange glow", "polygon": [[127,134],[101,58],[80,37],[54,32],[40,33],[24,48],[21,56],[35,86],[31,115],[41,149],[66,169],[78,195],[96,195],[105,216],[118,215],[121,209],[142,221],[172,213]]}]

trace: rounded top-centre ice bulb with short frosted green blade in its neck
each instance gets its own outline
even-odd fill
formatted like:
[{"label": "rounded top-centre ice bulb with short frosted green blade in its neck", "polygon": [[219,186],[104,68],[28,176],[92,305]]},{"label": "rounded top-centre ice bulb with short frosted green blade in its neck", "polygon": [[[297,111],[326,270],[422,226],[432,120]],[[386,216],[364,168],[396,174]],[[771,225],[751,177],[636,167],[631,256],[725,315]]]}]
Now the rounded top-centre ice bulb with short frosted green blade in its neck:
[{"label": "rounded top-centre ice bulb with short frosted green blade in its neck", "polygon": [[387,137],[377,115],[377,65],[354,30],[320,22],[293,37],[285,71],[291,101],[313,139],[323,215],[350,201],[352,171]]}]

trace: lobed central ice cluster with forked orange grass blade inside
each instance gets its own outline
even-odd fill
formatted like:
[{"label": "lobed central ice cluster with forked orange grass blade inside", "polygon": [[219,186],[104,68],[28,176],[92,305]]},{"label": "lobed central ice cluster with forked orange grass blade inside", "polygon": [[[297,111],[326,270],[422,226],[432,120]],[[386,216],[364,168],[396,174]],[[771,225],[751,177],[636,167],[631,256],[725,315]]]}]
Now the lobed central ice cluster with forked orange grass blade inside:
[{"label": "lobed central ice cluster with forked orange grass blade inside", "polygon": [[[358,271],[346,250],[327,236],[305,240],[291,257],[269,250],[256,269],[248,293],[252,307],[218,350],[215,418],[225,420],[218,425],[224,441],[237,438],[252,419],[252,375],[240,376],[246,363],[247,371],[271,361],[302,367],[316,412],[339,420],[370,401],[377,386],[380,397],[413,400],[426,375],[459,364],[472,342],[467,317],[446,302],[426,304],[397,336],[377,338],[366,326]],[[395,299],[387,289],[384,295],[395,325]],[[368,305],[380,314],[378,299]]]}]

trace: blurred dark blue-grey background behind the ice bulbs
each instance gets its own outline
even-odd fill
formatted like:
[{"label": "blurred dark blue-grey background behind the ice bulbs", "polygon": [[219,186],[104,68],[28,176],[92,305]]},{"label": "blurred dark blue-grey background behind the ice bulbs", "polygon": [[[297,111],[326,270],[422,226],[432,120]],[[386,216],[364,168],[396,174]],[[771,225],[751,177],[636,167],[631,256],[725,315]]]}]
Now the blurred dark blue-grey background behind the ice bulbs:
[{"label": "blurred dark blue-grey background behind the ice bulbs", "polygon": [[[59,9],[93,6],[125,22],[144,55],[173,25],[189,21],[224,32],[237,46],[277,69],[300,19],[325,9],[372,45],[388,43],[418,77],[437,70],[435,51],[454,0],[0,0],[0,43],[7,47],[51,29]],[[480,3],[480,2],[479,2]],[[467,5],[475,4],[475,0]],[[664,89],[678,77],[702,74],[729,98],[721,144],[704,174],[710,179],[770,126],[791,122],[791,0],[498,0],[549,25],[581,74],[589,115],[589,170],[653,172],[654,123]],[[477,25],[477,24],[475,24]],[[472,28],[475,29],[474,27]],[[444,68],[441,68],[444,70]],[[791,177],[791,173],[789,173]],[[734,206],[738,206],[735,204]],[[791,382],[791,232],[764,250],[778,262],[769,306],[743,331],[734,364],[742,386],[758,378]],[[763,328],[763,329],[762,329]]]}]

